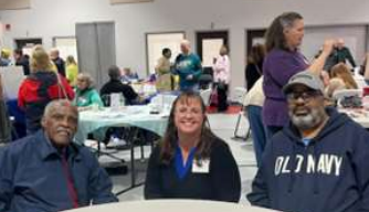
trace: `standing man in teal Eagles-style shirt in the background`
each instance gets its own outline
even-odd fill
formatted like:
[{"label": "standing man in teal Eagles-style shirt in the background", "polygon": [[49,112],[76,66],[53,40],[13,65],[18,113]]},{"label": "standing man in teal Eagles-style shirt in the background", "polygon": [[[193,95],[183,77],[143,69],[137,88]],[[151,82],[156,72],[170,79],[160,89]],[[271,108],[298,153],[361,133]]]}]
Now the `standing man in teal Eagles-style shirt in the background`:
[{"label": "standing man in teal Eagles-style shirt in the background", "polygon": [[182,53],[177,56],[173,68],[173,74],[179,75],[179,88],[180,91],[197,91],[202,73],[201,60],[191,53],[189,41],[183,40],[180,49]]}]

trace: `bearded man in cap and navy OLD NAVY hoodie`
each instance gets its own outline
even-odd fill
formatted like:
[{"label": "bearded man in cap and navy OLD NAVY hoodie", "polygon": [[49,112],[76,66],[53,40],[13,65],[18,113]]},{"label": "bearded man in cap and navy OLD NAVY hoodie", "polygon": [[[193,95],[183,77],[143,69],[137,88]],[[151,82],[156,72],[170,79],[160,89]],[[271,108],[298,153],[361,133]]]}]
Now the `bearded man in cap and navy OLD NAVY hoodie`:
[{"label": "bearded man in cap and navy OLD NAVY hoodie", "polygon": [[247,194],[253,205],[287,212],[369,210],[369,132],[324,105],[310,72],[284,87],[291,123],[267,144]]}]

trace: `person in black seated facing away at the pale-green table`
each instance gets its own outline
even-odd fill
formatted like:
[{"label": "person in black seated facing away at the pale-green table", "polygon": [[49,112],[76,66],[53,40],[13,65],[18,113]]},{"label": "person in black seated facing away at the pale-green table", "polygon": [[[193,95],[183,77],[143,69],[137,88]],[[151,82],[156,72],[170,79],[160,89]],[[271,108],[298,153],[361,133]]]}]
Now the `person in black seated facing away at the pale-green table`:
[{"label": "person in black seated facing away at the pale-green table", "polygon": [[99,95],[105,102],[105,105],[109,106],[108,97],[113,93],[122,93],[125,98],[126,105],[138,104],[139,97],[137,93],[134,91],[134,88],[130,85],[126,85],[120,82],[122,74],[120,74],[119,67],[116,65],[113,65],[109,67],[107,72],[110,77],[110,81],[107,82],[99,91]]}]

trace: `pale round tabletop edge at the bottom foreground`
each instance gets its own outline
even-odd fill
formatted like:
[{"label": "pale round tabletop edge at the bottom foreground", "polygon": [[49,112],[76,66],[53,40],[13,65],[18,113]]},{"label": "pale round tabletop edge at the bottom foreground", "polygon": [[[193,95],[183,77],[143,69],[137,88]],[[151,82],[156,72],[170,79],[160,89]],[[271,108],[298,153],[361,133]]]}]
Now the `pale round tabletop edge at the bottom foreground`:
[{"label": "pale round tabletop edge at the bottom foreground", "polygon": [[275,212],[243,204],[200,200],[147,200],[99,204],[68,212]]}]

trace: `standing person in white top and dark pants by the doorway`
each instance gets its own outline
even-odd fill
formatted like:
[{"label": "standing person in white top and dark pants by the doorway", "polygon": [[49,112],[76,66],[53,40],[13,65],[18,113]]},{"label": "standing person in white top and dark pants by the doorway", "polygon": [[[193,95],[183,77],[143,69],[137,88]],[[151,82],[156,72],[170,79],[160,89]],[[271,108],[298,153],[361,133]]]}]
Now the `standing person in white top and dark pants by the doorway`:
[{"label": "standing person in white top and dark pants by the doorway", "polygon": [[226,93],[230,83],[231,62],[225,45],[220,49],[219,54],[214,59],[213,75],[218,93],[218,112],[224,112],[228,109]]}]

